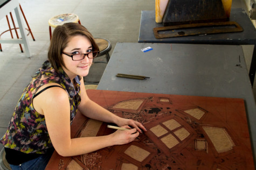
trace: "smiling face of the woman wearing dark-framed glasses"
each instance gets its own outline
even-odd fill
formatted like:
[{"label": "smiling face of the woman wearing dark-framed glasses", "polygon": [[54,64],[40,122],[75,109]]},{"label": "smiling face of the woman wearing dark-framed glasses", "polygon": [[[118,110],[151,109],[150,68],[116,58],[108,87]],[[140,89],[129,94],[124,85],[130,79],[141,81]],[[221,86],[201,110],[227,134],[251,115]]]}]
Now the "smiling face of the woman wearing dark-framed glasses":
[{"label": "smiling face of the woman wearing dark-framed glasses", "polygon": [[[68,55],[72,54],[85,54],[92,52],[92,43],[91,41],[81,35],[73,36],[68,41],[67,47],[63,50],[64,53]],[[74,79],[75,76],[87,76],[89,73],[89,68],[92,65],[93,59],[89,59],[87,55],[84,59],[79,61],[73,61],[70,56],[62,54],[64,64],[66,68],[63,67],[65,73],[70,77],[71,80]]]}]

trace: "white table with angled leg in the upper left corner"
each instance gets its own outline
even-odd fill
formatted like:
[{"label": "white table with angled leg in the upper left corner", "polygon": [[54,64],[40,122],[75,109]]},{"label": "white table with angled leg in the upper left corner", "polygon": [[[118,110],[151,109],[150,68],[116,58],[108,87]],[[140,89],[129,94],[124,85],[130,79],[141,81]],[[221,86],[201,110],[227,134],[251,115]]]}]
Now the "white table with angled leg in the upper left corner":
[{"label": "white table with angled leg in the upper left corner", "polygon": [[31,56],[30,52],[30,46],[29,46],[29,40],[27,39],[27,36],[25,34],[25,27],[24,22],[22,20],[22,15],[20,13],[19,9],[19,1],[18,0],[6,0],[0,2],[0,18],[4,18],[6,15],[8,15],[9,12],[12,10],[15,11],[15,15],[17,18],[17,22],[19,25],[20,34],[22,36],[21,39],[0,39],[0,44],[24,44],[25,47],[25,53],[27,57]]}]

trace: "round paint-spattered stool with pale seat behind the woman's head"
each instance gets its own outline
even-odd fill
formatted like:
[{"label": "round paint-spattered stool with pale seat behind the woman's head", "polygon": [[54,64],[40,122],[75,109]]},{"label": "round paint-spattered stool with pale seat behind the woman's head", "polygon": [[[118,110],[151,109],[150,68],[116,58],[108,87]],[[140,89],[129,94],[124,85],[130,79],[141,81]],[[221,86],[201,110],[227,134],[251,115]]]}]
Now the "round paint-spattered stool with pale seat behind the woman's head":
[{"label": "round paint-spattered stool with pale seat behind the woman's head", "polygon": [[80,23],[80,20],[77,15],[74,13],[63,13],[57,16],[54,16],[49,19],[49,33],[50,33],[50,40],[52,39],[52,29],[51,27],[56,27],[58,25],[63,25],[65,23]]}]

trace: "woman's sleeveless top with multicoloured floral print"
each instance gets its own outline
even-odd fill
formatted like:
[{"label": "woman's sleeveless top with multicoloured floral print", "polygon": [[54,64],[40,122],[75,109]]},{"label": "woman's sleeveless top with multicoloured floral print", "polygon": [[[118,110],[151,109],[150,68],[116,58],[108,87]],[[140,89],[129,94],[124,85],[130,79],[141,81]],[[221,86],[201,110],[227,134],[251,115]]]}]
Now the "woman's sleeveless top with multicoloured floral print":
[{"label": "woman's sleeveless top with multicoloured floral print", "polygon": [[32,104],[36,91],[47,83],[58,83],[67,91],[70,100],[70,123],[72,124],[81,101],[80,81],[76,82],[74,87],[61,67],[56,72],[50,62],[45,61],[18,101],[8,130],[0,140],[4,147],[24,153],[45,153],[48,148],[53,147],[46,128],[45,117],[40,115]]}]

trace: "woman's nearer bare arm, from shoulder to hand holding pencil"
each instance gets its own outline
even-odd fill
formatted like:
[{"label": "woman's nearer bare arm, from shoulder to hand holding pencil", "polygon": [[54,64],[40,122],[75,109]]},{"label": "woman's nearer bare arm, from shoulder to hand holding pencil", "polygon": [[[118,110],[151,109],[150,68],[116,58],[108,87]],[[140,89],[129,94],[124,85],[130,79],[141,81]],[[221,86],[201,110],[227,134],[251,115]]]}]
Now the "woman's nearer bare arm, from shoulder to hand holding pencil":
[{"label": "woman's nearer bare arm, from shoulder to hand holding pencil", "polygon": [[64,157],[85,154],[107,146],[126,144],[139,136],[136,129],[131,129],[117,130],[107,136],[71,139],[70,102],[66,91],[59,87],[45,90],[34,98],[33,104],[37,110],[41,111],[39,113],[45,116],[52,144]]}]

